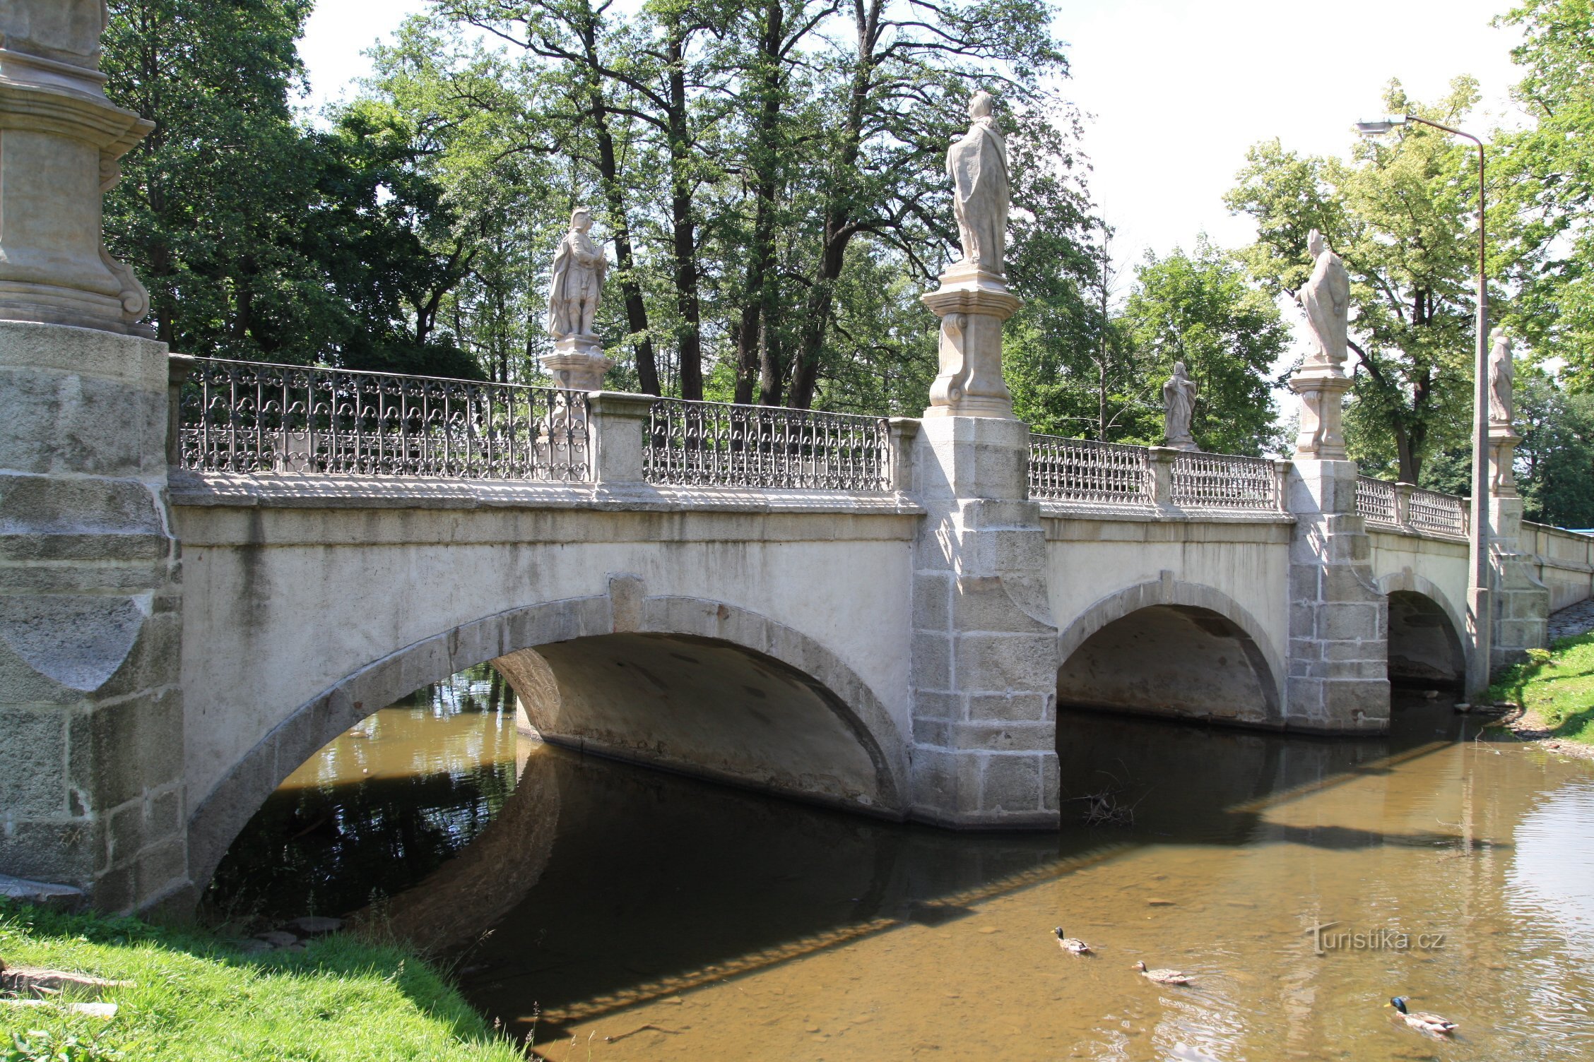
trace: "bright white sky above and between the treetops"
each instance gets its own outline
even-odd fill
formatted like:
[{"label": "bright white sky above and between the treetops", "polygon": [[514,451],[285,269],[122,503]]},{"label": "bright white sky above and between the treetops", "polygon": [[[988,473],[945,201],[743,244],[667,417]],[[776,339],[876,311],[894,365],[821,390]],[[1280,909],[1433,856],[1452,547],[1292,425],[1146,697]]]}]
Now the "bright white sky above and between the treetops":
[{"label": "bright white sky above and between the treetops", "polygon": [[[1474,131],[1513,121],[1519,73],[1510,30],[1489,21],[1511,0],[1060,0],[1057,29],[1073,62],[1070,96],[1090,115],[1092,193],[1117,229],[1121,263],[1144,247],[1189,248],[1205,231],[1250,240],[1223,193],[1258,140],[1309,153],[1347,151],[1358,118],[1382,113],[1398,76],[1417,99],[1451,78],[1482,81]],[[300,53],[312,105],[370,73],[360,54],[424,0],[319,0]]]}]

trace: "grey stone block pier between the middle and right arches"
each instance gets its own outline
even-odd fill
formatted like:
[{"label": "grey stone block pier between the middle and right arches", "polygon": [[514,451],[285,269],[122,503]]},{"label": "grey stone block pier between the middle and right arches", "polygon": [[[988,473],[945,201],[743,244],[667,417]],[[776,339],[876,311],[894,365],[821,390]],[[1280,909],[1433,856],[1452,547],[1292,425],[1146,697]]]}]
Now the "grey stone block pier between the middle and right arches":
[{"label": "grey stone block pier between the middle and right arches", "polygon": [[[1337,396],[1331,408],[1337,435]],[[1302,409],[1302,439],[1305,422]],[[1286,505],[1296,525],[1290,540],[1285,724],[1382,731],[1390,720],[1388,600],[1372,581],[1372,546],[1356,514],[1356,463],[1298,454]]]}]

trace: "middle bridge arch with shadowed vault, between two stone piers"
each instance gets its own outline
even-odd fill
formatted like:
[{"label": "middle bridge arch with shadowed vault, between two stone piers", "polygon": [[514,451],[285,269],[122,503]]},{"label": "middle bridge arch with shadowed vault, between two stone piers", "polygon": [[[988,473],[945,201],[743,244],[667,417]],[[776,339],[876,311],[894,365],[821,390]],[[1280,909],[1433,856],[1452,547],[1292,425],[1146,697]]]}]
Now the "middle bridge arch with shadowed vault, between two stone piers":
[{"label": "middle bridge arch with shadowed vault, between two stone piers", "polygon": [[1058,634],[1057,701],[1283,726],[1286,670],[1266,631],[1223,591],[1162,572],[1097,600]]}]

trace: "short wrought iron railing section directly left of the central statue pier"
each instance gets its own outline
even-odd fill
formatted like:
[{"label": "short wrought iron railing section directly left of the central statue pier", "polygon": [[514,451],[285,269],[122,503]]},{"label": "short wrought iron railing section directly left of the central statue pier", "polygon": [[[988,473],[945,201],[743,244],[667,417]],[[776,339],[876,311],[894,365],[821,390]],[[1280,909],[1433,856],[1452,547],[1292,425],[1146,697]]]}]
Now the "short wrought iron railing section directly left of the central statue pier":
[{"label": "short wrought iron railing section directly left of the central statue pier", "polygon": [[647,422],[642,474],[676,486],[885,492],[891,489],[891,424],[660,398]]}]

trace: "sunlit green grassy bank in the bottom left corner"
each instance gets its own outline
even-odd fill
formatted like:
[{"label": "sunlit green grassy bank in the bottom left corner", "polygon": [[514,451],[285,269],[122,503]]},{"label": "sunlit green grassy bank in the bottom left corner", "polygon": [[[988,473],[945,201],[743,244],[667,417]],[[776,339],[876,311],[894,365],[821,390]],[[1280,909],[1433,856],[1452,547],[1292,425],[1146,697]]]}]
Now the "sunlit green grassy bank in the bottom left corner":
[{"label": "sunlit green grassy bank in the bottom left corner", "polygon": [[0,901],[0,960],[135,982],[104,994],[108,1021],[0,1005],[0,1062],[526,1057],[414,954],[349,935],[244,954],[202,930]]}]

